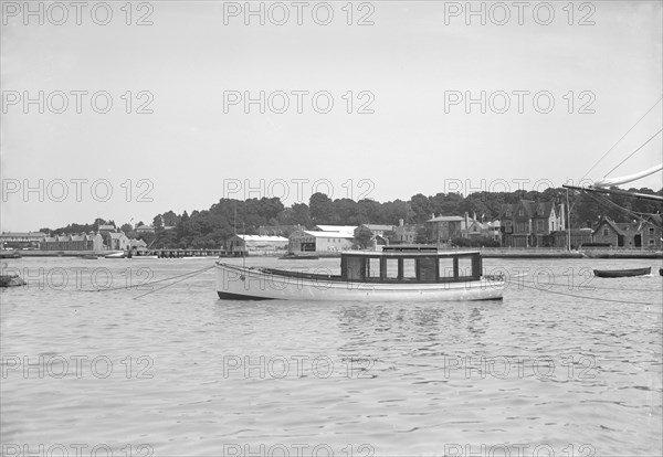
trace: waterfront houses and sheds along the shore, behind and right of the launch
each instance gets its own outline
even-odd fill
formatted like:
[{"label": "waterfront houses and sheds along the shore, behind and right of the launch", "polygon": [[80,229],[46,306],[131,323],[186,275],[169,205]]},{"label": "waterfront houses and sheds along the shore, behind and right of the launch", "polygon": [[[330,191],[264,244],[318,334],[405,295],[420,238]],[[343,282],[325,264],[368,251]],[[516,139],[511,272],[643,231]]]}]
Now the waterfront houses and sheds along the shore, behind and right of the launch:
[{"label": "waterfront houses and sheds along the shore, behind and right of the launch", "polygon": [[[483,240],[504,247],[617,247],[661,249],[661,216],[630,223],[617,223],[604,217],[594,227],[566,230],[566,208],[554,202],[520,200],[504,206],[499,220],[483,221],[476,215],[431,215],[424,224],[364,224],[360,226],[317,225],[313,230],[288,227],[290,236],[236,235],[231,252],[241,253],[328,253],[357,247],[360,231],[370,232],[371,246],[413,244],[422,242],[419,233],[425,230],[425,242],[452,246],[459,238]],[[263,233],[278,233],[277,226]],[[486,243],[487,244],[487,243]]]}]

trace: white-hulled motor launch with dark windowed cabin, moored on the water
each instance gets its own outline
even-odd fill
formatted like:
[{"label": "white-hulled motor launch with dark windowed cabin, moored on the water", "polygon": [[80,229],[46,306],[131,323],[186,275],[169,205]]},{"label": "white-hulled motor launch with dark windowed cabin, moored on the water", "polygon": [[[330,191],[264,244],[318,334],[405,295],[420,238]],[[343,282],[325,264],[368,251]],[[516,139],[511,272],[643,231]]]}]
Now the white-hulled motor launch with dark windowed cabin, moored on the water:
[{"label": "white-hulled motor launch with dark windowed cabin, moored on the water", "polygon": [[504,284],[502,276],[482,276],[482,257],[474,251],[345,252],[340,275],[217,262],[217,293],[229,300],[501,300]]}]

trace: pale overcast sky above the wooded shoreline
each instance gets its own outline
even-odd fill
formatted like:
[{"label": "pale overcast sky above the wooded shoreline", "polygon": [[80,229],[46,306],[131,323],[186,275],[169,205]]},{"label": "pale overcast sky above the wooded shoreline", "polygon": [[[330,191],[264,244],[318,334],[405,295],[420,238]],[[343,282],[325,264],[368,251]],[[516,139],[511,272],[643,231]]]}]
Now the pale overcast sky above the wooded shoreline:
[{"label": "pale overcast sky above the wooded shoreline", "polygon": [[[150,223],[223,196],[577,183],[663,94],[660,1],[472,2],[485,25],[465,1],[264,2],[264,25],[243,1],[125,3],[107,19],[96,2],[2,2],[2,231]],[[589,178],[656,134],[662,109]],[[609,176],[661,151],[659,135]]]}]

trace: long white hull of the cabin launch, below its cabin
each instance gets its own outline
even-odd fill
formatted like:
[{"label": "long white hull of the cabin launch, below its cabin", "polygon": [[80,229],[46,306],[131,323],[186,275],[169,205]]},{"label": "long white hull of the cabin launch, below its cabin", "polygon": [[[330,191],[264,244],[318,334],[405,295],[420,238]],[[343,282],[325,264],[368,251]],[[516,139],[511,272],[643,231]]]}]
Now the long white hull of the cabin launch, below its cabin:
[{"label": "long white hull of the cabin launch, below its cabin", "polygon": [[352,283],[270,275],[217,264],[217,291],[224,299],[309,301],[464,301],[502,299],[503,280],[463,283]]}]

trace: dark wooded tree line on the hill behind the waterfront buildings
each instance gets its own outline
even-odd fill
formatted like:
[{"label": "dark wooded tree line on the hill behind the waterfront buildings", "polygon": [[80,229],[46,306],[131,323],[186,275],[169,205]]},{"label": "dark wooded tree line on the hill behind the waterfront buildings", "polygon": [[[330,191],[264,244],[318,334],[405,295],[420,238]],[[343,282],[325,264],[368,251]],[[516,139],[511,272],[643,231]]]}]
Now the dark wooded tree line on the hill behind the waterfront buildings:
[{"label": "dark wooded tree line on the hill behind the waterfront buildings", "polygon": [[[651,189],[629,189],[632,192],[663,195],[663,189],[657,192]],[[434,215],[476,216],[478,220],[493,221],[501,217],[505,204],[518,203],[520,199],[534,201],[554,201],[567,203],[567,190],[550,188],[543,192],[475,192],[466,196],[459,193],[438,193],[423,195],[418,193],[410,200],[377,202],[375,200],[350,199],[332,200],[324,193],[315,193],[308,204],[294,203],[284,206],[278,198],[262,198],[249,200],[221,199],[208,210],[194,210],[181,214],[172,210],[157,214],[151,221],[155,233],[135,234],[130,224],[124,224],[122,230],[130,237],[143,238],[152,247],[165,248],[220,248],[235,233],[257,234],[261,225],[288,225],[313,228],[315,225],[361,225],[387,224],[398,225],[402,220],[406,224],[422,224]],[[617,222],[628,222],[632,216],[622,208],[635,213],[661,213],[661,203],[648,200],[636,200],[628,195],[610,194],[596,195],[569,191],[571,208],[571,226],[591,227],[601,216],[609,216]],[[42,228],[52,235],[81,233],[98,230],[101,224],[113,221],[95,220],[92,224],[70,224],[56,230]],[[138,224],[140,225],[141,222]],[[291,228],[291,231],[294,228]],[[288,233],[286,233],[287,235]]]}]

